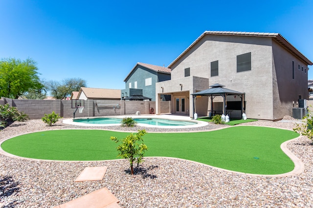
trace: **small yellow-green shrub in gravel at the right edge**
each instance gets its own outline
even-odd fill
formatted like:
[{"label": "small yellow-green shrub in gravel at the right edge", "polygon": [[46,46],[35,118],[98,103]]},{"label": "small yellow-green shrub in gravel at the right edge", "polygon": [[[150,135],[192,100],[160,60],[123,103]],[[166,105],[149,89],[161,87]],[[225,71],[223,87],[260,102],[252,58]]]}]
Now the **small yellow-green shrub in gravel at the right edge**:
[{"label": "small yellow-green shrub in gravel at the right edge", "polygon": [[300,133],[301,135],[307,136],[313,145],[313,113],[308,110],[308,114],[303,117],[301,124],[296,124],[293,131]]}]

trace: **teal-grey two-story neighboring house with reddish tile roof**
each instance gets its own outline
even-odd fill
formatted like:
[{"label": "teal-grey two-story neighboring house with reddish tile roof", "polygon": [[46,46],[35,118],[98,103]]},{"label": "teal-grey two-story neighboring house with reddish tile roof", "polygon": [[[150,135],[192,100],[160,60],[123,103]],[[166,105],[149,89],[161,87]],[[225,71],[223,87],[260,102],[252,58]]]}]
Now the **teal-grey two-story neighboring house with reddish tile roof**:
[{"label": "teal-grey two-story neighboring house with reddish tile roof", "polygon": [[[140,95],[156,100],[156,82],[171,79],[171,69],[146,63],[137,63],[124,79],[125,89],[121,91],[122,99]],[[170,99],[169,95],[160,95],[162,100]]]}]

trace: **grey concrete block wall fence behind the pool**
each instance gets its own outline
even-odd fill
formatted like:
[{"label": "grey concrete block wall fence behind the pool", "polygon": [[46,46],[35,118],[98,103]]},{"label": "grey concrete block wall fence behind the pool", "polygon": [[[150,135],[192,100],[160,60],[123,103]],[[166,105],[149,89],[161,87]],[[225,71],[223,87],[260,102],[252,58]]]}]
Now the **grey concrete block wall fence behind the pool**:
[{"label": "grey concrete block wall fence behind the pool", "polygon": [[[2,97],[0,105],[8,103],[26,113],[30,119],[41,119],[45,114],[59,113],[64,118],[72,118],[76,109],[71,108],[71,100],[28,100]],[[153,109],[153,110],[152,110]],[[107,115],[154,114],[155,101],[125,101],[125,100],[85,100],[83,113],[79,110],[76,117],[97,117]],[[161,101],[161,113],[171,113],[171,101]]]}]

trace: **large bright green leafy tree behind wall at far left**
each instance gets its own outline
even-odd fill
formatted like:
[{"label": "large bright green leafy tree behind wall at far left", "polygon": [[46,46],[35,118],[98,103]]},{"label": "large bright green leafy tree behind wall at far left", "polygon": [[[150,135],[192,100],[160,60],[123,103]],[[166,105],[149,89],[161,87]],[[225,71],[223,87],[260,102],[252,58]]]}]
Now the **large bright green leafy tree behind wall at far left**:
[{"label": "large bright green leafy tree behind wall at far left", "polygon": [[15,58],[0,60],[0,97],[17,99],[30,89],[41,89],[36,62],[30,58],[22,61]]}]

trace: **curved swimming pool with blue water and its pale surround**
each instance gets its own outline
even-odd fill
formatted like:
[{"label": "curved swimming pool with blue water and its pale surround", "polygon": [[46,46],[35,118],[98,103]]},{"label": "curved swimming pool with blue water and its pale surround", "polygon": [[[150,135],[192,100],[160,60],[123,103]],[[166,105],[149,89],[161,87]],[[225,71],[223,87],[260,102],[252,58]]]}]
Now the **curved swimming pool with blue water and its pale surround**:
[{"label": "curved swimming pool with blue water and its pale surround", "polygon": [[63,123],[78,126],[119,126],[124,117],[132,117],[137,126],[157,128],[194,128],[208,125],[207,122],[192,120],[189,116],[146,115],[146,116],[110,116],[65,119]]}]

